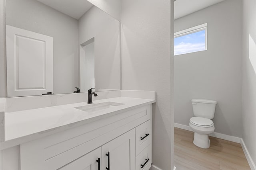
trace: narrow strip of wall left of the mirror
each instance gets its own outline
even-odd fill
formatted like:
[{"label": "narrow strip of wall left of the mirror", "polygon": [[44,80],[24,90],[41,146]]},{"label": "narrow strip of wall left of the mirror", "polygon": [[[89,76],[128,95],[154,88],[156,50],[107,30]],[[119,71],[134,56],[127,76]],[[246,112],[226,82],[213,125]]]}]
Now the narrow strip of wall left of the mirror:
[{"label": "narrow strip of wall left of the mirror", "polygon": [[0,98],[7,96],[5,0],[0,0]]}]

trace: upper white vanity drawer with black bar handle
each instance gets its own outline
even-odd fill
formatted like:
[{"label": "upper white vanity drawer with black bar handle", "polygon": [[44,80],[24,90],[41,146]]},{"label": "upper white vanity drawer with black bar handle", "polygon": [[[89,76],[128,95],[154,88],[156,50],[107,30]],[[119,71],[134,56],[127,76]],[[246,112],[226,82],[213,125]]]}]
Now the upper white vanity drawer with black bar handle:
[{"label": "upper white vanity drawer with black bar handle", "polygon": [[136,155],[151,143],[151,121],[139,125],[135,129],[136,133]]}]

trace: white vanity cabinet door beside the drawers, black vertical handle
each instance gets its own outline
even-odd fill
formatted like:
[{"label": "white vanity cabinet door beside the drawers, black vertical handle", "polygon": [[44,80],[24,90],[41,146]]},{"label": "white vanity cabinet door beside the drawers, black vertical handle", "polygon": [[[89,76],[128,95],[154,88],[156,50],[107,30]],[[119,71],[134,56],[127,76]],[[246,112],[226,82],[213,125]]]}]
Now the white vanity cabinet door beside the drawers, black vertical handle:
[{"label": "white vanity cabinet door beside the drawers, black vertical handle", "polygon": [[135,129],[102,146],[102,169],[135,170],[135,161]]}]

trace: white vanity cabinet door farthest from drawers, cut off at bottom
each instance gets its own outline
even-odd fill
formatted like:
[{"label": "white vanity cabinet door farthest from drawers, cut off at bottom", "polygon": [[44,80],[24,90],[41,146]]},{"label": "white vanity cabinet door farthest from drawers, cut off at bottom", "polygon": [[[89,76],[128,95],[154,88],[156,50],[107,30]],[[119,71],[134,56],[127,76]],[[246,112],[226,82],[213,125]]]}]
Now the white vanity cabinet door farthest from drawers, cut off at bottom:
[{"label": "white vanity cabinet door farthest from drawers, cut off at bottom", "polygon": [[58,170],[101,170],[101,147],[74,160],[62,168],[59,168]]}]

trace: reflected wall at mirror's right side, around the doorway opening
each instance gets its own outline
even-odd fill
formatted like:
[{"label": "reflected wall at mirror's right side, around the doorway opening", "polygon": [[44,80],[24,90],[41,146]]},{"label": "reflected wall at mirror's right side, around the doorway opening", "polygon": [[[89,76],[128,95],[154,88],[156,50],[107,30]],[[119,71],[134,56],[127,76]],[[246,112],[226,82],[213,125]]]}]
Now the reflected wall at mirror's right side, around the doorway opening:
[{"label": "reflected wall at mirror's right side, around the doorway opening", "polygon": [[94,37],[95,91],[120,90],[120,22],[93,6],[79,19],[78,35],[79,45]]}]

